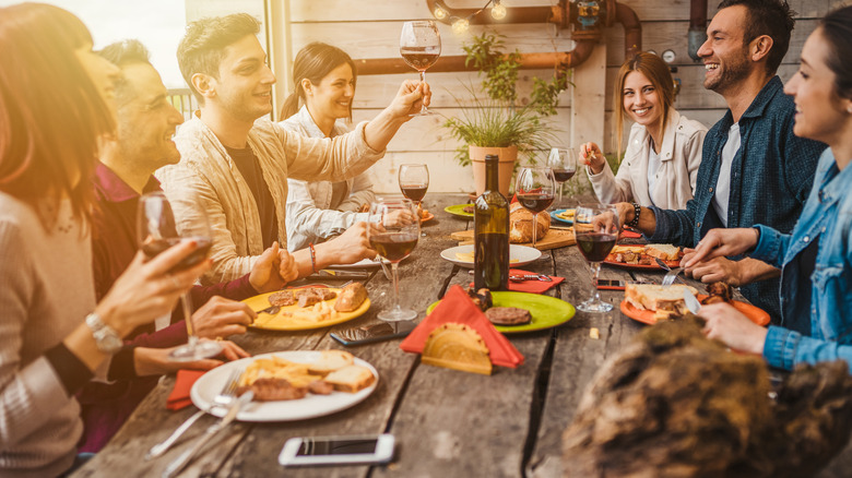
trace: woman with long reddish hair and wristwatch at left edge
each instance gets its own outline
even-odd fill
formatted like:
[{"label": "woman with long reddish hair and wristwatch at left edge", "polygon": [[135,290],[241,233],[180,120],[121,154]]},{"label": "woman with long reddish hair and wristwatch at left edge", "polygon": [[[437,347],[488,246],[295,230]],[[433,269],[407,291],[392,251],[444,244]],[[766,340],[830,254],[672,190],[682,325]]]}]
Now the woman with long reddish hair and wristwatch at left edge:
[{"label": "woman with long reddish hair and wristwatch at left edge", "polygon": [[168,273],[192,242],[139,253],[95,303],[90,177],[114,131],[118,69],[62,9],[23,3],[0,17],[0,475],[48,477],[74,463],[74,393],[210,264]]}]

